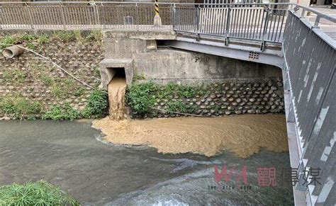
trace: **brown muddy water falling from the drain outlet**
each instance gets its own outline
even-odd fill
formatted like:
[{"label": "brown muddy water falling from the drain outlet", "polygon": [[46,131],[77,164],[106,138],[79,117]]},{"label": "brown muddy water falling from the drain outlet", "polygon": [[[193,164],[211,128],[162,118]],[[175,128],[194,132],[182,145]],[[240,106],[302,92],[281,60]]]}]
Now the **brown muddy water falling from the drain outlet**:
[{"label": "brown muddy water falling from the drain outlet", "polygon": [[111,120],[123,120],[125,118],[125,91],[125,77],[114,77],[108,84],[109,118]]}]

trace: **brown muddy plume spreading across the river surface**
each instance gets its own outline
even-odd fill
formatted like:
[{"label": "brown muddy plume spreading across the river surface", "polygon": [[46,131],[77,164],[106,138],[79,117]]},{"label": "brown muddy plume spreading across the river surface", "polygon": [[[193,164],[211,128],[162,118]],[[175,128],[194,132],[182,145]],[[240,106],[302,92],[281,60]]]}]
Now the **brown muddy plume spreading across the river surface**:
[{"label": "brown muddy plume spreading across the river surface", "polygon": [[148,145],[162,153],[214,156],[223,150],[248,157],[264,147],[288,151],[284,115],[237,115],[223,118],[96,120],[105,139],[114,144]]}]

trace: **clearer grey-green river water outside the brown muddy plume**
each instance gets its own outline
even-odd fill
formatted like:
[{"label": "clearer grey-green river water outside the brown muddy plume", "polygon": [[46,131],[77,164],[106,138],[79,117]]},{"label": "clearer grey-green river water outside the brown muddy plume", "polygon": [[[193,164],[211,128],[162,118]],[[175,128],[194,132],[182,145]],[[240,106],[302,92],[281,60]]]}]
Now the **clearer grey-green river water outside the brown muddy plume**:
[{"label": "clearer grey-green river water outside the brown muddy plume", "polygon": [[[44,179],[82,205],[293,205],[288,152],[161,154],[106,144],[89,120],[0,121],[0,130],[0,185]],[[246,166],[247,185],[234,175],[218,189],[214,166],[237,176]],[[258,168],[275,168],[276,185],[262,186]]]}]

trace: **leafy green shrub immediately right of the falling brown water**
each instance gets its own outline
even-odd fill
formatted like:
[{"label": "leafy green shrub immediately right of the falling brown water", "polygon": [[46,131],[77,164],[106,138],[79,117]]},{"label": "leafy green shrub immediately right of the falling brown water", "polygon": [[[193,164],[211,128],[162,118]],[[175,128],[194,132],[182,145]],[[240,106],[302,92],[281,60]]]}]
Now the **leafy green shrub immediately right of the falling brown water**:
[{"label": "leafy green shrub immediately right of the falling brown water", "polygon": [[133,113],[145,115],[156,101],[157,86],[152,81],[135,83],[128,87],[126,100]]}]

